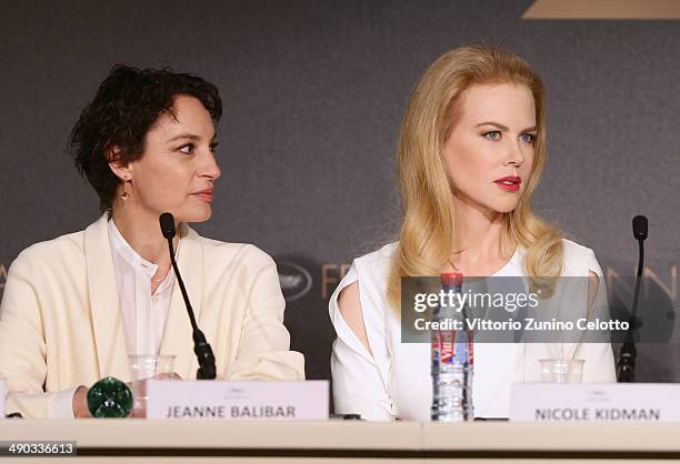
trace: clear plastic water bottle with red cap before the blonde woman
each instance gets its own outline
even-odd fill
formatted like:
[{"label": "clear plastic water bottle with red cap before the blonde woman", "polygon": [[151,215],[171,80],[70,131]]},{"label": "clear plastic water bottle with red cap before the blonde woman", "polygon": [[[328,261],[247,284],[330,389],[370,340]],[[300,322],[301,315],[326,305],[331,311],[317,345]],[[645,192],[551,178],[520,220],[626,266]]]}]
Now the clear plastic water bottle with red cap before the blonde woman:
[{"label": "clear plastic water bottle with red cap before the blonde woman", "polygon": [[[461,293],[462,274],[442,273],[441,285],[449,300],[450,292]],[[454,302],[452,306],[440,304],[432,314],[433,322],[443,323],[447,319],[457,320],[460,321],[462,329],[432,331],[431,418],[438,422],[463,422],[474,417],[472,407],[473,337],[472,332],[466,325],[464,307],[458,306],[458,299],[454,294],[451,295],[451,300]]]}]

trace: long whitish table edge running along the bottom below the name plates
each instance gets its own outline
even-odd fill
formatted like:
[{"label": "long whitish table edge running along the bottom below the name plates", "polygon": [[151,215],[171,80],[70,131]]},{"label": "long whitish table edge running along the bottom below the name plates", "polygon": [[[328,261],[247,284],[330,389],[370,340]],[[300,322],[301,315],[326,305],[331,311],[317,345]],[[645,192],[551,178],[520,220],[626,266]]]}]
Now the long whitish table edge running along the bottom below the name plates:
[{"label": "long whitish table edge running along the bottom below the name plates", "polygon": [[0,440],[76,441],[92,463],[680,462],[680,424],[7,420]]}]

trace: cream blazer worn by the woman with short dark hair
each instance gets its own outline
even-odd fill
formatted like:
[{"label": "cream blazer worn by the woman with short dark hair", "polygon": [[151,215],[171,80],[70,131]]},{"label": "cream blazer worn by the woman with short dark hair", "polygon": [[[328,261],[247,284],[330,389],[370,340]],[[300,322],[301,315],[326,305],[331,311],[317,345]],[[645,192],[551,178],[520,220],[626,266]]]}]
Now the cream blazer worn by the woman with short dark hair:
[{"label": "cream blazer worn by the woman with short dark hair", "polygon": [[[273,260],[253,245],[206,239],[180,226],[178,265],[218,379],[302,380],[289,351],[284,300]],[[57,395],[107,375],[130,379],[107,216],[84,231],[37,243],[12,263],[0,305],[0,377],[7,413],[47,417]],[[176,281],[161,354],[196,379],[191,324]]]}]

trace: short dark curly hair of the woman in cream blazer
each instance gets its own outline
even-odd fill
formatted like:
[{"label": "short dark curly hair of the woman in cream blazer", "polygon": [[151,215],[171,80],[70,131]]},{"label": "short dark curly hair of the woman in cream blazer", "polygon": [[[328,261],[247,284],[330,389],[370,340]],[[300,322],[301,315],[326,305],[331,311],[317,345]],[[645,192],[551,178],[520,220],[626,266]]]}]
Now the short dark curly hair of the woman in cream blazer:
[{"label": "short dark curly hair of the woman in cream blazer", "polygon": [[[68,148],[78,171],[97,191],[101,212],[111,210],[121,182],[109,162],[124,164],[140,159],[147,132],[161,115],[174,115],[174,98],[180,94],[198,99],[214,123],[222,115],[220,94],[210,82],[167,68],[141,70],[124,64],[111,68],[92,102],[82,110]],[[114,160],[110,158],[113,147]]]}]

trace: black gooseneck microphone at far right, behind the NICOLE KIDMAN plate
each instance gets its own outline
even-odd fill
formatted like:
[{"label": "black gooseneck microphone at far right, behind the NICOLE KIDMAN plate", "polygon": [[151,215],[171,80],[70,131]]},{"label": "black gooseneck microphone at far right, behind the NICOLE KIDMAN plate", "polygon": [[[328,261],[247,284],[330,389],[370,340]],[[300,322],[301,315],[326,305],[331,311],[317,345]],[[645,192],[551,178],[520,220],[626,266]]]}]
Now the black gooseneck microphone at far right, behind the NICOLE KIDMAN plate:
[{"label": "black gooseneck microphone at far right, behind the NICOLE KIDMAN plate", "polygon": [[630,312],[630,320],[626,340],[619,350],[619,363],[617,377],[622,383],[633,383],[636,381],[636,340],[633,331],[638,329],[638,302],[640,300],[640,283],[642,281],[642,269],[644,265],[644,240],[647,240],[647,218],[637,215],[633,218],[633,236],[638,241],[638,272],[636,274],[636,289],[633,291],[633,303]]}]

